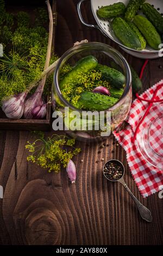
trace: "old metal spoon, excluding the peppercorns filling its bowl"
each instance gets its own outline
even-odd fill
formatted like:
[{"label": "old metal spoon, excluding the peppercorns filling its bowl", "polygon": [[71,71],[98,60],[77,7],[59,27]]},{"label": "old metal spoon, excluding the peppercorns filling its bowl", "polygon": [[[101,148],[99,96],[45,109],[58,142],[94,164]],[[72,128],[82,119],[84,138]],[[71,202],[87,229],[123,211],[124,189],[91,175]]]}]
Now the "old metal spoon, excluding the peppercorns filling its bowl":
[{"label": "old metal spoon, excluding the peppercorns filling its bowl", "polygon": [[[121,178],[116,179],[116,180],[111,180],[111,179],[109,179],[108,177],[106,177],[106,175],[105,175],[105,173],[104,173],[104,170],[105,170],[104,168],[105,168],[106,164],[109,163],[109,162],[116,163],[118,166],[121,167],[121,170],[122,170],[122,173],[123,173],[122,176],[121,176]],[[143,218],[143,220],[145,220],[145,221],[147,221],[147,222],[152,222],[151,211],[149,211],[149,210],[146,208],[146,206],[144,206],[143,204],[141,204],[141,203],[139,202],[139,200],[137,200],[137,198],[136,198],[136,197],[134,196],[134,194],[129,190],[128,186],[127,186],[126,183],[124,182],[124,179],[123,179],[124,172],[125,172],[125,170],[124,170],[123,163],[120,162],[120,161],[118,161],[118,160],[116,160],[116,159],[111,159],[111,160],[107,161],[107,162],[104,164],[104,166],[103,166],[103,174],[104,174],[105,178],[106,178],[107,180],[109,180],[109,181],[118,181],[118,182],[120,182],[120,183],[126,188],[126,190],[128,191],[128,193],[130,194],[131,198],[133,198],[133,200],[134,200],[134,202],[135,202],[135,204],[136,204],[136,206],[137,206],[137,208],[138,208],[138,210],[139,210],[139,212],[140,212],[140,215],[141,215],[141,217]]]}]

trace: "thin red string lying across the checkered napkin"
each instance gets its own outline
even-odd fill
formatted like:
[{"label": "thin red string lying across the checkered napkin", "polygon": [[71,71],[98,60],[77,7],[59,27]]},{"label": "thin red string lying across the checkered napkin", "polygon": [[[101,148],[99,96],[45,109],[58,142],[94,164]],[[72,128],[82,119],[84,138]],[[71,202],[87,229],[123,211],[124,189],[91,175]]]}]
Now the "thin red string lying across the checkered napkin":
[{"label": "thin red string lying across the checkered napkin", "polygon": [[[145,71],[145,68],[146,68],[146,66],[147,66],[147,64],[148,64],[148,61],[149,61],[149,60],[147,59],[147,60],[145,61],[145,63],[143,64],[143,66],[142,66],[142,69],[141,69],[141,72],[140,72],[140,79],[141,79],[142,76],[143,76],[143,72]],[[154,102],[161,102],[161,101],[163,101],[163,99],[162,99],[162,100],[155,100],[156,94],[158,93],[158,90],[161,88],[161,86],[163,86],[163,83],[159,84],[159,86],[156,88],[156,90],[155,90],[155,92],[154,92],[153,97],[152,97],[151,100],[145,100],[145,99],[143,99],[142,97],[140,97],[139,94],[136,93],[137,99],[139,99],[139,100],[141,100],[141,101],[149,102],[149,106],[148,106],[148,108],[147,108],[145,114],[143,115],[142,119],[140,120],[139,124],[136,126],[136,130],[135,130],[135,132],[134,132],[134,137],[131,139],[131,141],[132,141],[133,143],[135,142],[136,135],[137,135],[137,132],[138,132],[138,130],[139,130],[139,127],[140,127],[140,125],[142,124],[143,120],[145,120],[145,118],[147,117],[147,114],[148,114],[149,110],[151,109],[151,107],[153,106],[153,103],[154,103]]]}]

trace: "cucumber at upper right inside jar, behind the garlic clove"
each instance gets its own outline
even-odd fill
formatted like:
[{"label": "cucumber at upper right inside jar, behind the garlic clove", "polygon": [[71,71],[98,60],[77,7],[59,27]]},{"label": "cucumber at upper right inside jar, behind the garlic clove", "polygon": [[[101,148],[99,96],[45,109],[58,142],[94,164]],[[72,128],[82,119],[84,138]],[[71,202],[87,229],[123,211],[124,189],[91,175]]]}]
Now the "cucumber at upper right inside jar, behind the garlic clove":
[{"label": "cucumber at upper right inside jar, behind the garlic clove", "polygon": [[109,68],[109,66],[98,64],[96,67],[102,73],[102,79],[108,81],[116,88],[122,88],[126,82],[125,76],[118,70]]}]

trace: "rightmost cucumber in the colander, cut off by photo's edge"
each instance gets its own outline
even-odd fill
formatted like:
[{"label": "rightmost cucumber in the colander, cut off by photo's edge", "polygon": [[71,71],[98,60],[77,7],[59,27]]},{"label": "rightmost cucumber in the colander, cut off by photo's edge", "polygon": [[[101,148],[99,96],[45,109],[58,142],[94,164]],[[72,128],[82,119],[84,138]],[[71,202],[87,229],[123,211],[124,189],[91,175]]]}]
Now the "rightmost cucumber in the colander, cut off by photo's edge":
[{"label": "rightmost cucumber in the colander, cut off by photo's edge", "polygon": [[153,24],[156,30],[163,34],[163,17],[151,4],[145,3],[142,5],[143,14],[145,14],[149,21]]}]

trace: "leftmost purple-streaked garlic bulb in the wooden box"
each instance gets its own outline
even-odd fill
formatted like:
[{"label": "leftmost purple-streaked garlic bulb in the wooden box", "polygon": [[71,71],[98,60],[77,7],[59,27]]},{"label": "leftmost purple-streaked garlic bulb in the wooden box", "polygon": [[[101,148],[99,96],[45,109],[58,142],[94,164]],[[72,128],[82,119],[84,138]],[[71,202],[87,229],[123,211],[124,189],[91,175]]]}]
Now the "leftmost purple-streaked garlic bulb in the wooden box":
[{"label": "leftmost purple-streaked garlic bulb in the wooden box", "polygon": [[2,101],[2,110],[8,118],[20,119],[22,117],[26,96],[26,93],[20,93]]}]

